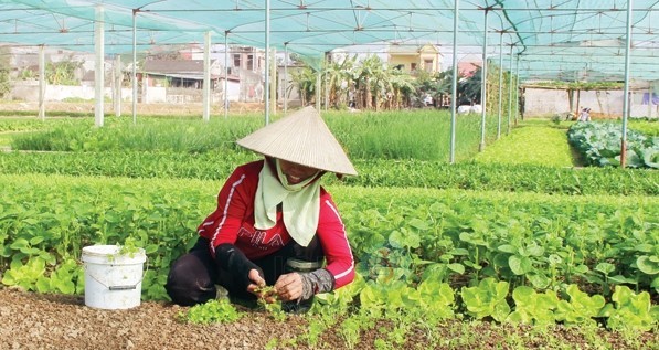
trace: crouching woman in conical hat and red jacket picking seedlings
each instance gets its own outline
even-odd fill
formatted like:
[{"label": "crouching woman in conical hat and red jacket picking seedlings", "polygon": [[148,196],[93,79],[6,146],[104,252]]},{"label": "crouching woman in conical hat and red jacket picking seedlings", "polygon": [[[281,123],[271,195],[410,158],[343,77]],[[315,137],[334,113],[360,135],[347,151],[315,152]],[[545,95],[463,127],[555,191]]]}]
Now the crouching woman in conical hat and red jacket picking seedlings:
[{"label": "crouching woman in conical hat and red jacket picking seedlings", "polygon": [[172,301],[205,303],[215,285],[255,299],[274,285],[278,299],[299,304],[351,283],[344,226],[319,180],[357,171],[320,115],[304,108],[237,144],[265,159],[240,166],[222,187],[196,244],[170,269]]}]

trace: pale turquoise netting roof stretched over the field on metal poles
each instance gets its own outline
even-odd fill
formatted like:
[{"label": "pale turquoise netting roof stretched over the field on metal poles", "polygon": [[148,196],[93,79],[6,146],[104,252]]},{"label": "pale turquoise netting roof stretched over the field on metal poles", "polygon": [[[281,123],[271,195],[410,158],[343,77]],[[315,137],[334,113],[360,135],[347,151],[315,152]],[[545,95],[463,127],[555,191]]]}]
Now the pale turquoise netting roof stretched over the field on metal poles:
[{"label": "pale turquoise netting roof stretched over the field on metal poles", "polygon": [[[446,54],[458,3],[459,47],[481,46],[487,26],[488,56],[498,63],[502,52],[503,67],[523,79],[621,79],[630,2],[630,77],[659,79],[657,0],[270,0],[269,44],[317,57],[382,42],[435,43]],[[129,53],[134,13],[140,52],[203,42],[209,31],[214,43],[227,35],[230,44],[266,46],[266,1],[254,0],[0,0],[0,42],[93,52],[103,20],[105,53]]]}]

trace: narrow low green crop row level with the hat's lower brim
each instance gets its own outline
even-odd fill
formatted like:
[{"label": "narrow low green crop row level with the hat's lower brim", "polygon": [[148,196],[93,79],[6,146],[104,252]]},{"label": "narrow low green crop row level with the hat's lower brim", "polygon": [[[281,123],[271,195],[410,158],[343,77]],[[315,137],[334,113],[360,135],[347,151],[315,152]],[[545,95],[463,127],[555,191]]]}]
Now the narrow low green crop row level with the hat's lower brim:
[{"label": "narrow low green crop row level with the hat's lower brim", "polygon": [[[153,152],[3,152],[0,173],[53,173],[129,178],[191,178],[223,181],[240,163],[259,156]],[[342,183],[360,187],[490,190],[556,194],[659,195],[659,172],[648,169],[573,169],[421,160],[354,160],[358,177]],[[337,183],[326,176],[327,183]]]}]

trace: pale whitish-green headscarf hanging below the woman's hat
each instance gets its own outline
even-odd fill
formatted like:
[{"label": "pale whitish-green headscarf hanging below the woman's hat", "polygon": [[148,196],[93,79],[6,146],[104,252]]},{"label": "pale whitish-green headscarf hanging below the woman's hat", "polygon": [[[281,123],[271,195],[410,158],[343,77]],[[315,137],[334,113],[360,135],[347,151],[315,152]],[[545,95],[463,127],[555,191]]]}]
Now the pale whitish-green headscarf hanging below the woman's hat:
[{"label": "pale whitish-green headscarf hanging below the woman's hat", "polygon": [[277,222],[277,205],[281,203],[284,225],[290,236],[301,246],[309,245],[318,229],[320,215],[320,181],[318,172],[305,181],[288,184],[281,172],[279,159],[275,159],[277,176],[267,160],[258,174],[258,185],[254,199],[254,227],[268,230]]}]

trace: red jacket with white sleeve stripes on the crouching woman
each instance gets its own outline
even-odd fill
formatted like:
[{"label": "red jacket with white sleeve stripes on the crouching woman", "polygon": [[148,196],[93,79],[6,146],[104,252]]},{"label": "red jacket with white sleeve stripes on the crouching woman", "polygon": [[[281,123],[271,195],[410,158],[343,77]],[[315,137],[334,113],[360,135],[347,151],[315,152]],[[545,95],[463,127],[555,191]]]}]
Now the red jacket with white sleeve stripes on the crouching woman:
[{"label": "red jacket with white sleeve stripes on the crouching woman", "polygon": [[[217,245],[231,243],[247,258],[258,259],[290,242],[281,213],[278,213],[274,227],[265,231],[254,229],[254,197],[263,165],[264,161],[258,160],[236,168],[220,190],[217,209],[199,225],[199,234],[211,241],[213,256]],[[327,261],[325,268],[334,276],[334,288],[351,283],[354,278],[354,261],[346,227],[331,195],[322,187],[316,234]]]}]

